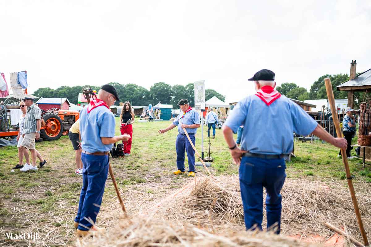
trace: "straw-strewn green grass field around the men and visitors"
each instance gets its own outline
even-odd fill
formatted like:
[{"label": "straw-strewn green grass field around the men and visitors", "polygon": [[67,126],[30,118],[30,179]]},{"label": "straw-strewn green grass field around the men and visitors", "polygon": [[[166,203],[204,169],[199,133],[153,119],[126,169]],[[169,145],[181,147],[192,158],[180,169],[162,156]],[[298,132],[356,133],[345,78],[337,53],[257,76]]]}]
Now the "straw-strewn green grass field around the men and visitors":
[{"label": "straw-strewn green grass field around the men and visitors", "polygon": [[[118,119],[116,119],[118,123]],[[171,122],[135,122],[131,155],[126,158],[111,159],[118,186],[129,213],[136,213],[138,205],[151,202],[177,188],[191,178],[186,175],[174,176],[176,169],[175,136],[177,129],[165,134],[157,134]],[[119,134],[119,129],[116,129]],[[207,154],[208,138],[204,129],[204,152]],[[198,152],[201,145],[201,131],[196,135]],[[0,243],[8,246],[73,246],[73,219],[77,212],[82,178],[74,174],[74,151],[68,139],[63,136],[56,141],[44,141],[36,148],[48,161],[45,167],[22,173],[10,170],[18,163],[17,148],[0,148]],[[338,149],[329,144],[295,143],[295,155],[287,164],[290,178],[320,180],[328,184],[337,180],[346,186],[346,176],[342,160],[337,158]],[[352,151],[354,152],[354,151]],[[355,155],[355,153],[354,153]],[[221,130],[217,129],[215,139],[211,139],[211,156],[215,158],[210,171],[215,175],[237,174]],[[187,157],[187,156],[186,156]],[[359,159],[349,160],[355,179],[355,188],[370,186],[371,171],[355,166]],[[187,160],[186,160],[187,169]],[[206,176],[203,168],[197,174]],[[197,176],[196,174],[196,176]],[[140,198],[140,200],[134,198]],[[115,190],[108,176],[101,214],[119,212]],[[109,225],[109,221],[98,220],[97,224]],[[112,215],[115,218],[115,215]],[[6,233],[38,232],[36,242],[9,241]]]}]

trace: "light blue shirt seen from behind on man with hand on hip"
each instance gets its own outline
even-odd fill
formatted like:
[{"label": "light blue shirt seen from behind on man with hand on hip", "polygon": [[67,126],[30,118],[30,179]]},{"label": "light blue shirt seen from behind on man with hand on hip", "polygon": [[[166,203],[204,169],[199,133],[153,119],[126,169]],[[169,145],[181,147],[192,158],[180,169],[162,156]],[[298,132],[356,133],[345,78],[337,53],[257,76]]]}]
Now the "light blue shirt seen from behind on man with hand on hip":
[{"label": "light blue shirt seen from behind on man with hand on hip", "polygon": [[317,127],[299,105],[285,96],[267,106],[258,96],[240,101],[224,123],[234,133],[244,125],[241,149],[254,154],[290,154],[293,132],[306,136]]}]

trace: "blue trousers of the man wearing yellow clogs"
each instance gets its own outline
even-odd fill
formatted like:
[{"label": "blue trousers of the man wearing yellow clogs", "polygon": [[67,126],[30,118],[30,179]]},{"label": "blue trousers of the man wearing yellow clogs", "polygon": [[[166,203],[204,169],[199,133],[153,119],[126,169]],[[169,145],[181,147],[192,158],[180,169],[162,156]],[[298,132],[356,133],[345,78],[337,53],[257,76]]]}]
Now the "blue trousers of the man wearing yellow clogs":
[{"label": "blue trousers of the man wearing yellow clogs", "polygon": [[[188,134],[193,145],[196,143],[196,137],[192,134]],[[177,150],[177,167],[178,170],[181,170],[182,172],[185,171],[184,167],[184,160],[185,155],[184,152],[187,151],[187,157],[188,157],[188,168],[189,171],[194,172],[194,149],[192,148],[190,142],[188,141],[188,138],[186,135],[178,134],[177,140],[175,141],[175,148]]]}]

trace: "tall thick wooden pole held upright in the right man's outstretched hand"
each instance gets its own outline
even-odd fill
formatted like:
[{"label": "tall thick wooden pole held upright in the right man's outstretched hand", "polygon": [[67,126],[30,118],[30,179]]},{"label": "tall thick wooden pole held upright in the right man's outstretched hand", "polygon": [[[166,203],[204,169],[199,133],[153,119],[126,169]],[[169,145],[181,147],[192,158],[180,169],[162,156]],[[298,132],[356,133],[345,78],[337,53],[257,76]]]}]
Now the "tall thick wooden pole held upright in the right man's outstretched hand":
[{"label": "tall thick wooden pole held upright in the right man's outstretched hand", "polygon": [[[332,92],[332,84],[331,84],[330,78],[325,79],[325,86],[326,86],[328,101],[331,106],[332,120],[334,121],[334,126],[336,128],[336,134],[338,136],[342,136],[338,114],[336,113],[334,92]],[[340,150],[341,150],[341,156],[342,156],[344,167],[345,167],[345,172],[347,173],[348,186],[349,186],[350,194],[352,196],[354,211],[355,211],[355,215],[357,216],[357,221],[359,224],[359,230],[361,231],[365,246],[368,246],[368,240],[367,240],[367,236],[365,233],[365,229],[363,227],[361,213],[359,213],[358,202],[357,202],[357,198],[355,197],[355,192],[354,192],[352,177],[351,177],[350,170],[349,170],[347,155],[346,155],[345,149],[340,149]]]}]

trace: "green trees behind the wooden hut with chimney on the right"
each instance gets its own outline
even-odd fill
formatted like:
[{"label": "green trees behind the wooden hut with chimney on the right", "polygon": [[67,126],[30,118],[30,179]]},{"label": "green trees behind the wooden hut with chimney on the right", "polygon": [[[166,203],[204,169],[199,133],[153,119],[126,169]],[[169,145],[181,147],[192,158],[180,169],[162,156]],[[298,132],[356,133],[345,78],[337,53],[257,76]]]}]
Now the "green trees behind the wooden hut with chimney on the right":
[{"label": "green trees behind the wooden hut with chimney on the right", "polygon": [[[357,76],[360,75],[362,72],[357,73]],[[278,92],[282,95],[285,95],[291,99],[297,99],[299,101],[305,101],[307,99],[327,99],[326,93],[326,86],[325,86],[325,78],[331,79],[332,90],[334,92],[335,99],[347,99],[348,92],[347,91],[338,91],[336,86],[346,82],[349,80],[349,75],[347,74],[337,74],[337,75],[323,75],[318,78],[313,85],[309,92],[293,82],[285,82],[282,85],[277,86]],[[364,93],[362,92],[354,92],[354,99],[362,99]]]}]

